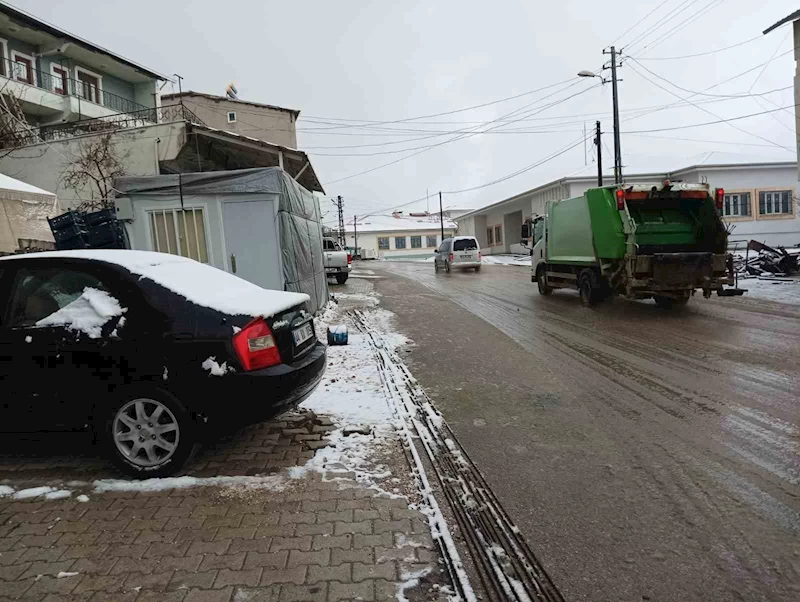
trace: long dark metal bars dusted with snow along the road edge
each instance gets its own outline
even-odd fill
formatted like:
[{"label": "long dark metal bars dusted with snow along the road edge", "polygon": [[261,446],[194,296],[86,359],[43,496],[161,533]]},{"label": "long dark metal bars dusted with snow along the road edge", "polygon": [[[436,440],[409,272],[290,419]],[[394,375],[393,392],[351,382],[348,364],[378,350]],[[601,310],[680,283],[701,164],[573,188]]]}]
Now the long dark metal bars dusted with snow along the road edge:
[{"label": "long dark metal bars dusted with snow along the road edge", "polygon": [[406,436],[406,451],[411,456],[415,478],[428,503],[426,511],[431,531],[439,543],[458,594],[465,600],[477,600],[433,497],[415,439],[422,444],[433,467],[489,599],[497,602],[564,602],[477,466],[394,352],[393,346],[384,341],[363,312],[354,310],[352,317],[375,351],[381,378],[396,411],[398,429]]}]

